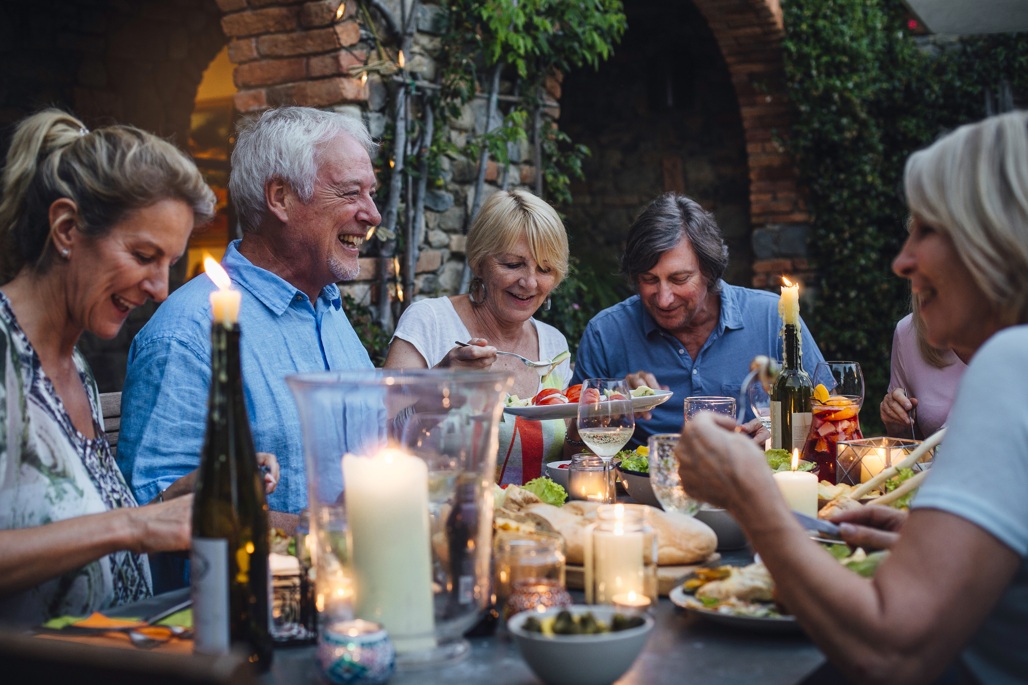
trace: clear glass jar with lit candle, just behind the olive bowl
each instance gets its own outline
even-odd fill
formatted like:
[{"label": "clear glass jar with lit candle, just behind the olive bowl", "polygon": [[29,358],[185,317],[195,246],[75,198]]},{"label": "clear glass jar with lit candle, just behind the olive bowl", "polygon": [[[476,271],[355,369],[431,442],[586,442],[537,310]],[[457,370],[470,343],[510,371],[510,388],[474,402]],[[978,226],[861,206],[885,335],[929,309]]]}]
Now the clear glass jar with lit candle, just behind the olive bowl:
[{"label": "clear glass jar with lit candle, just behind the olive bowl", "polygon": [[615,598],[627,604],[631,593],[657,604],[657,534],[650,511],[644,504],[596,509],[597,521],[583,537],[586,604],[615,604]]}]

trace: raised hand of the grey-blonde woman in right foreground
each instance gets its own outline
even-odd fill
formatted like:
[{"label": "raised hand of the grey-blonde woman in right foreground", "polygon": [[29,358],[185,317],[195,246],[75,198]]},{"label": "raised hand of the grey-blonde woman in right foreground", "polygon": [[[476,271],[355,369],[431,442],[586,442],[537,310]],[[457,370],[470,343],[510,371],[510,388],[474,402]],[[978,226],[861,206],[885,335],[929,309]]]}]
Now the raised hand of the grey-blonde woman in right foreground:
[{"label": "raised hand of the grey-blonde woman in right foreground", "polygon": [[755,488],[776,490],[764,453],[749,437],[735,432],[730,416],[711,412],[694,416],[682,426],[674,454],[686,492],[714,506],[731,509]]}]

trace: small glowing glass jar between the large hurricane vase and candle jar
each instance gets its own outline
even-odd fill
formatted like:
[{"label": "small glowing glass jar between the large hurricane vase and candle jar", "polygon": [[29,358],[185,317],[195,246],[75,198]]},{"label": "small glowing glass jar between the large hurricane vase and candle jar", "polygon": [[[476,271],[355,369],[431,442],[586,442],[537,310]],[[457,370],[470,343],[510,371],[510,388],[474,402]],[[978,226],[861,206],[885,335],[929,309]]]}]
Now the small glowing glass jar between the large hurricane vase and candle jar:
[{"label": "small glowing glass jar between the large hurricane vase and candle jar", "polygon": [[497,608],[506,605],[518,580],[553,580],[564,584],[564,538],[556,533],[503,531],[497,535]]}]

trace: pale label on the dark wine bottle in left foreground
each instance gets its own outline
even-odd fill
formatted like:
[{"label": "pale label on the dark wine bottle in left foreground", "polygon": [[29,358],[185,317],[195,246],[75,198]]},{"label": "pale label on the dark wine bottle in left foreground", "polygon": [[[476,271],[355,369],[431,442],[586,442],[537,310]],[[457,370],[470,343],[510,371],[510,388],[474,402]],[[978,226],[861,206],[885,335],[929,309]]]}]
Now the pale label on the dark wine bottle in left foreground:
[{"label": "pale label on the dark wine bottle in left foreground", "polygon": [[227,654],[228,540],[194,537],[189,555],[193,601],[193,651]]}]

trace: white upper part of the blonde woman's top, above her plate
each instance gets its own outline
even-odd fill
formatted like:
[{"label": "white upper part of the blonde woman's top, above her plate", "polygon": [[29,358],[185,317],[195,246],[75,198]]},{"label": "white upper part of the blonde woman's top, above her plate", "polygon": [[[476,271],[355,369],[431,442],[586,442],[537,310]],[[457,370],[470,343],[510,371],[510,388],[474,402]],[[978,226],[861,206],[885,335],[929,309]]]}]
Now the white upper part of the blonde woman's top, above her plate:
[{"label": "white upper part of the blonde woman's top, above her plate", "polygon": [[[567,351],[567,340],[560,331],[549,324],[529,318],[539,335],[539,358],[552,359]],[[456,347],[456,341],[468,342],[471,333],[461,320],[448,297],[430,298],[415,302],[403,312],[396,325],[393,338],[406,340],[421,353],[429,368],[443,360],[446,353]],[[390,343],[392,344],[392,340]],[[571,360],[564,359],[555,370],[557,376],[567,386],[572,377]],[[538,392],[538,390],[537,390]]]}]

